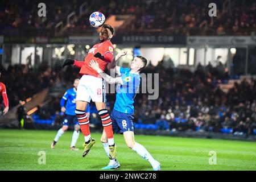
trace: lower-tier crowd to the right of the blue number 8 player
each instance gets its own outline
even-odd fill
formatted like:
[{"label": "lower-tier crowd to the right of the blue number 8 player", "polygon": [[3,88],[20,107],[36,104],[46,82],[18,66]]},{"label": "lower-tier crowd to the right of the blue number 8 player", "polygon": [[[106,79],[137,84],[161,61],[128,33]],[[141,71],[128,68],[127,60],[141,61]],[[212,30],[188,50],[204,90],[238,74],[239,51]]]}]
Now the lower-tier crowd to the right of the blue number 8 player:
[{"label": "lower-tier crowd to the right of the blue number 8 player", "polygon": [[[215,69],[215,71],[214,71]],[[159,98],[147,100],[138,94],[135,102],[137,122],[156,123],[159,129],[172,131],[214,131],[232,129],[234,134],[250,135],[256,129],[256,79],[235,82],[223,92],[216,79],[222,69],[197,67],[192,73],[148,65],[146,73],[159,73]]]}]

